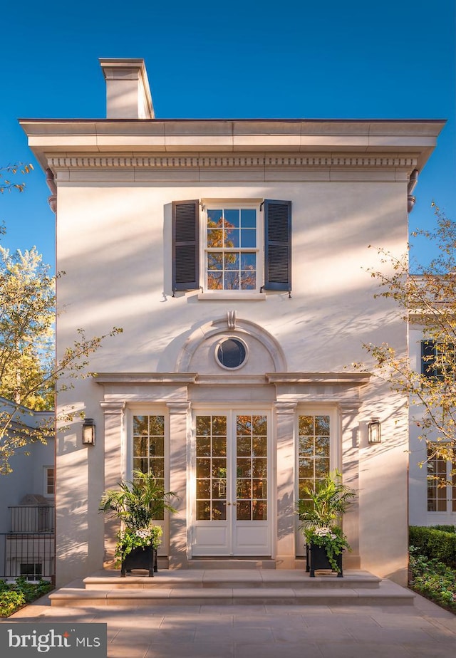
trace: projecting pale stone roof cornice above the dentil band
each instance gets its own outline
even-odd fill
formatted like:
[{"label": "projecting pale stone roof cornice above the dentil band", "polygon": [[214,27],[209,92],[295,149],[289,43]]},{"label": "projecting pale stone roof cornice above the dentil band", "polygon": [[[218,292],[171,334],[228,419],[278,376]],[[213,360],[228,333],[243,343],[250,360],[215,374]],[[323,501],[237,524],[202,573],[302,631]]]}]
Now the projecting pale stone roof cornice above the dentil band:
[{"label": "projecting pale stone roof cornice above the dentil band", "polygon": [[43,168],[48,155],[413,155],[421,169],[443,120],[36,120],[22,119]]}]

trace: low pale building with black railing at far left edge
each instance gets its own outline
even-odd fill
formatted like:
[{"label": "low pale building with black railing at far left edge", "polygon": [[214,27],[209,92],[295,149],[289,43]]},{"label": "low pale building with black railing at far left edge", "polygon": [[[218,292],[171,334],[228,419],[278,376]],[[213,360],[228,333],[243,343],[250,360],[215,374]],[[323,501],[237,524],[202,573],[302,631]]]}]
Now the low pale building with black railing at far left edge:
[{"label": "low pale building with black railing at far left edge", "polygon": [[[12,412],[17,431],[53,418],[0,397],[0,413]],[[11,456],[11,473],[0,475],[0,578],[53,578],[54,448],[53,437],[28,444]]]}]

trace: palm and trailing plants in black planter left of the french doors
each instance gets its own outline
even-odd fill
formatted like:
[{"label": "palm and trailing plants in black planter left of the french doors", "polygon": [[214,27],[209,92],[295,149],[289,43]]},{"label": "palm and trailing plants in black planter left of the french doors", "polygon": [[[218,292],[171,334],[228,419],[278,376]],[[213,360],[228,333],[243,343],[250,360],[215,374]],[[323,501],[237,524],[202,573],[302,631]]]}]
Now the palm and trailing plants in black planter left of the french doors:
[{"label": "palm and trailing plants in black planter left of the french doors", "polygon": [[165,511],[176,511],[171,505],[176,497],[152,473],[142,471],[133,471],[133,480],[120,482],[119,489],[105,491],[100,511],[121,522],[115,546],[120,575],[132,569],[147,569],[150,576],[157,571],[162,528],[153,522],[163,518]]}]

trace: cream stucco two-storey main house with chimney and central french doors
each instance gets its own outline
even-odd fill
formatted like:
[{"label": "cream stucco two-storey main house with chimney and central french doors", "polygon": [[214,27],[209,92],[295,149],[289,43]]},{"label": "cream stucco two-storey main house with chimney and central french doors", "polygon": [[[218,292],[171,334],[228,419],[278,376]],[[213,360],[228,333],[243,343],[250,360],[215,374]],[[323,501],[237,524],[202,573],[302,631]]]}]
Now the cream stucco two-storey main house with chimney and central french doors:
[{"label": "cream stucco two-storey main house with chimney and central french doors", "polygon": [[358,492],[346,566],[405,583],[408,412],[351,364],[366,342],[406,353],[369,246],[405,251],[444,122],[160,120],[141,60],[101,66],[107,119],[21,120],[57,195],[58,354],[79,327],[123,328],[58,395],[96,428],[57,442],[58,585],[112,561],[100,497],[136,467],[180,495],[170,568],[293,568],[295,501],[337,468]]}]

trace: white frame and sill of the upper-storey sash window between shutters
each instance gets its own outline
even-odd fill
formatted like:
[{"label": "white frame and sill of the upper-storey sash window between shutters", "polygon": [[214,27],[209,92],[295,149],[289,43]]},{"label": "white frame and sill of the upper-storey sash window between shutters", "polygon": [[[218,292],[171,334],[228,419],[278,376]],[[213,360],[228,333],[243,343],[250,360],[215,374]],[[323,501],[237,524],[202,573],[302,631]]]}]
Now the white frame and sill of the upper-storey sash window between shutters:
[{"label": "white frame and sill of the upper-storey sash window between shutters", "polygon": [[[198,299],[246,299],[249,301],[263,301],[266,293],[260,292],[264,276],[264,211],[261,207],[263,199],[201,199],[202,209],[199,221],[199,281],[204,281],[203,292],[198,293]],[[257,247],[249,248],[257,254],[257,285],[252,290],[209,290],[207,288],[207,210],[223,209],[253,209],[257,211]],[[239,247],[241,251],[241,247]]]}]

